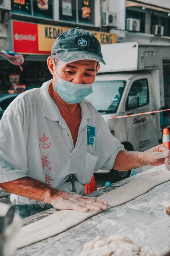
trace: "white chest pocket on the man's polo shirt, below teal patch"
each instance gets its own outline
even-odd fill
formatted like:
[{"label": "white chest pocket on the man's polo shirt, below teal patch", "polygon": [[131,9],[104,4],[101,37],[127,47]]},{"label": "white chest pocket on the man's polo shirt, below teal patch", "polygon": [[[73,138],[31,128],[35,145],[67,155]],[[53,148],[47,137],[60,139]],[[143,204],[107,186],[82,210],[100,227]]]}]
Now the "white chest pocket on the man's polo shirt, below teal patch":
[{"label": "white chest pocket on the man's polo shirt, below teal patch", "polygon": [[91,181],[98,158],[98,156],[86,153],[84,173],[81,180],[82,184],[87,184]]}]

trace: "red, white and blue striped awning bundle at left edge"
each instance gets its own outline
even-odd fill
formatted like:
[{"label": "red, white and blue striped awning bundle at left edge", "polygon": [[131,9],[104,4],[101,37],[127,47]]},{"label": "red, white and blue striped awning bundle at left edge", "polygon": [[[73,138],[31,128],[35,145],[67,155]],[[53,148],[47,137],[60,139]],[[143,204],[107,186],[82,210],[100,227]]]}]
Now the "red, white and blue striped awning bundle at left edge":
[{"label": "red, white and blue striped awning bundle at left edge", "polygon": [[19,66],[23,71],[21,65],[24,63],[24,57],[22,54],[12,51],[0,51],[0,56],[8,60],[10,63]]}]

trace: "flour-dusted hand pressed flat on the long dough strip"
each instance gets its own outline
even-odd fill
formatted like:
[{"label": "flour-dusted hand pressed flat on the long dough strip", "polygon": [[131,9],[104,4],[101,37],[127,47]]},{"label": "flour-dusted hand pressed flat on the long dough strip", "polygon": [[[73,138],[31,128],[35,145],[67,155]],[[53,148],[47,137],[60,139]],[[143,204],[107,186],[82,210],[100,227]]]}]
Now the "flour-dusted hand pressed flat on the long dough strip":
[{"label": "flour-dusted hand pressed flat on the long dough strip", "polygon": [[[45,200],[46,201],[46,200]],[[76,193],[55,190],[54,194],[47,199],[53,207],[60,210],[77,210],[79,212],[105,211],[108,204],[98,201],[96,197],[81,196]]]}]

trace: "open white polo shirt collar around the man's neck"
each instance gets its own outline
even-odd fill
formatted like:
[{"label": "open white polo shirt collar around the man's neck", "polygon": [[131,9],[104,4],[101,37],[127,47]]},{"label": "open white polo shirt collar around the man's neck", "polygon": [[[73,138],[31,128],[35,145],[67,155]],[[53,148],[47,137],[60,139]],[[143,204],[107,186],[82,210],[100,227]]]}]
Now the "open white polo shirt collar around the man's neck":
[{"label": "open white polo shirt collar around the man's neck", "polygon": [[[49,94],[49,86],[51,83],[52,83],[52,79],[43,83],[43,85],[40,88],[40,95],[42,100],[42,111],[43,111],[43,115],[46,118],[50,119],[51,121],[60,121],[62,118],[60,111],[57,105],[51,99]],[[90,118],[91,115],[84,100],[79,103],[79,106],[81,108],[82,117],[85,120]]]}]

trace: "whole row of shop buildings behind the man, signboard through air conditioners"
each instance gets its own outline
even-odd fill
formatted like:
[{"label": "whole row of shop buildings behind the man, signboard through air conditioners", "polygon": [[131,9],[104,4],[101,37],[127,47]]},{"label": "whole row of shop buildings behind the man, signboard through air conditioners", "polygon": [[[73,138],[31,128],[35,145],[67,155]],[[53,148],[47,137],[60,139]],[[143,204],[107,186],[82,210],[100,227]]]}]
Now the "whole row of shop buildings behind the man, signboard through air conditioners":
[{"label": "whole row of shop buildings behind the man, signboard through air conditioners", "polygon": [[[0,93],[12,84],[39,87],[51,78],[47,58],[69,28],[92,31],[101,44],[170,43],[169,0],[1,0],[0,50],[23,54],[23,72],[0,59]],[[15,80],[15,81],[13,81]]]}]

